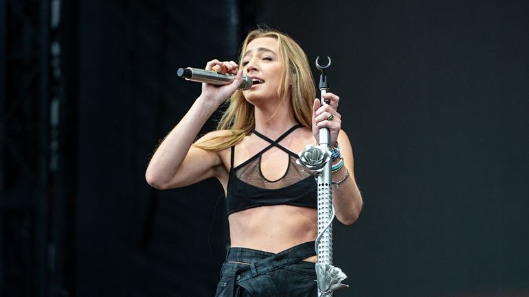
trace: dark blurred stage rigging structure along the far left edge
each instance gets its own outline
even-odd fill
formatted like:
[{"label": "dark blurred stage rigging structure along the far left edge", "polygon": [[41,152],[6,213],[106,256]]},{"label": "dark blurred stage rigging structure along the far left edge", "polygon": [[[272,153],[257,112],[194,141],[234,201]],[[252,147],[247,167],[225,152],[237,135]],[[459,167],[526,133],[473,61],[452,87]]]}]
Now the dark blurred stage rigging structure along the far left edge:
[{"label": "dark blurred stage rigging structure along the far left edge", "polygon": [[1,296],[67,296],[60,10],[60,0],[0,1]]}]

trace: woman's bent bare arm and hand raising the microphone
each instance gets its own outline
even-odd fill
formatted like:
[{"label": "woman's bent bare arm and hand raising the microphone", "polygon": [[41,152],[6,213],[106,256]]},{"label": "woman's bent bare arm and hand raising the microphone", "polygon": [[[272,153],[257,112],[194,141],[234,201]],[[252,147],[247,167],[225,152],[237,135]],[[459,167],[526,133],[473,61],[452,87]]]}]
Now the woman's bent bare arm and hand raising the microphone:
[{"label": "woman's bent bare arm and hand raising the microphone", "polygon": [[[223,72],[237,73],[237,65],[232,61],[207,62],[206,69],[210,70],[212,67]],[[217,152],[191,145],[207,119],[243,81],[241,74],[239,71],[236,80],[227,86],[202,84],[202,94],[161,142],[153,158],[150,159],[145,173],[149,185],[157,189],[184,187],[221,174],[223,167]],[[229,136],[229,132],[212,132],[203,136],[199,142],[218,136]]]}]

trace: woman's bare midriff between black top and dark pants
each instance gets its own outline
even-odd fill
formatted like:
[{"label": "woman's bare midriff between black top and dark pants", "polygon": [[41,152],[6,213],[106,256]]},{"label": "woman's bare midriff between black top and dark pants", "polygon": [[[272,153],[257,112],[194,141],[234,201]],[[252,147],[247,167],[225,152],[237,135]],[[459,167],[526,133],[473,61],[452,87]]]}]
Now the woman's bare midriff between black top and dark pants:
[{"label": "woman's bare midriff between black top and dark pants", "polygon": [[[232,248],[251,248],[274,254],[307,241],[317,235],[316,210],[308,207],[260,206],[229,215]],[[309,257],[304,261],[316,262]]]}]

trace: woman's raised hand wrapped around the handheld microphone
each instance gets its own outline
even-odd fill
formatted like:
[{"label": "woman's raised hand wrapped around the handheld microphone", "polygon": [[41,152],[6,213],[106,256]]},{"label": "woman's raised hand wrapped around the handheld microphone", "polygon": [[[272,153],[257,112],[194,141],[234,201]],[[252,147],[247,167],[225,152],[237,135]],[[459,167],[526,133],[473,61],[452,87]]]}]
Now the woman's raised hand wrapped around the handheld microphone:
[{"label": "woman's raised hand wrapped around the handheld microphone", "polygon": [[212,70],[218,73],[231,73],[236,74],[235,80],[231,84],[224,86],[217,86],[214,84],[202,84],[201,97],[205,97],[208,101],[216,102],[221,105],[225,102],[229,96],[231,96],[240,84],[243,83],[243,71],[238,70],[238,64],[234,61],[211,60],[207,62],[205,70]]}]

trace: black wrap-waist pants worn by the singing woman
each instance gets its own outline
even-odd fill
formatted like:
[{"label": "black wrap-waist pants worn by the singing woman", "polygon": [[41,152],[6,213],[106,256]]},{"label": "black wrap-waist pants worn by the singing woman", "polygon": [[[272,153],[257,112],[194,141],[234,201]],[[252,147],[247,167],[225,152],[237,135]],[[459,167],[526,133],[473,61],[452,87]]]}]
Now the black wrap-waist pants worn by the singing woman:
[{"label": "black wrap-waist pants worn by the singing woman", "polygon": [[314,255],[314,241],[278,254],[230,248],[215,296],[316,297],[315,264],[302,261]]}]

